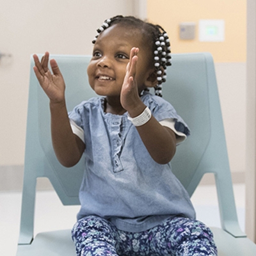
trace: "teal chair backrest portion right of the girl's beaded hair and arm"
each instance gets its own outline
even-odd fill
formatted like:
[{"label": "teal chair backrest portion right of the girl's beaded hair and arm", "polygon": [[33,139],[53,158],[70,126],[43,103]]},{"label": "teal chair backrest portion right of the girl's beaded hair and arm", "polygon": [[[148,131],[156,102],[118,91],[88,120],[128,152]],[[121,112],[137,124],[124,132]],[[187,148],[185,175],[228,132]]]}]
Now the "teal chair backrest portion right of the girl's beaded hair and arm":
[{"label": "teal chair backrest portion right of the girl's beaded hair and arm", "polygon": [[163,97],[191,129],[177,148],[173,172],[192,195],[204,173],[229,173],[227,147],[211,54],[178,54],[167,71]]}]

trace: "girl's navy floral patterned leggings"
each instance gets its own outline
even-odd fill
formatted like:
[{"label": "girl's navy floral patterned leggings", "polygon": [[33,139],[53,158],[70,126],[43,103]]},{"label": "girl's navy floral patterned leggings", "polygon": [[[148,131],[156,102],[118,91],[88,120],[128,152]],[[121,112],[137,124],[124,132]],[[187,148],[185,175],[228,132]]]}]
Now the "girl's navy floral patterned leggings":
[{"label": "girl's navy floral patterned leggings", "polygon": [[72,239],[77,256],[217,255],[211,230],[200,221],[182,217],[134,233],[118,230],[98,216],[88,216],[74,225]]}]

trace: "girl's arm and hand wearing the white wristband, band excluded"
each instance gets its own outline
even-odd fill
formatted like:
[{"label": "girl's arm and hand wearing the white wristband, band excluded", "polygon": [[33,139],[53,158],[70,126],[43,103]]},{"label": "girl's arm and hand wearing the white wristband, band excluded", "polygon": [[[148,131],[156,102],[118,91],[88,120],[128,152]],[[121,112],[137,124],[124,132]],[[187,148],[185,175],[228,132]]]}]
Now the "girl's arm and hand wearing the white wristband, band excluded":
[{"label": "girl's arm and hand wearing the white wristband, band excluded", "polygon": [[[122,106],[132,118],[140,115],[146,108],[140,99],[134,79],[138,61],[137,54],[138,48],[132,48],[120,98]],[[176,136],[171,129],[159,124],[154,116],[151,116],[146,124],[138,126],[136,129],[154,161],[159,164],[166,164],[171,161],[176,151]]]}]

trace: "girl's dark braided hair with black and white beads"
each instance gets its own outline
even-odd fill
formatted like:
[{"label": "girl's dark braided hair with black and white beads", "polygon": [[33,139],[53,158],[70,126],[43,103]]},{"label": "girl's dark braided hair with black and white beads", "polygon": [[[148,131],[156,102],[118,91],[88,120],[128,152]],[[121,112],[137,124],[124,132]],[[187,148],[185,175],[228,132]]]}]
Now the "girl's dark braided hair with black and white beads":
[{"label": "girl's dark braided hair with black and white beads", "polygon": [[171,64],[171,47],[170,40],[164,29],[159,25],[154,25],[149,22],[137,19],[133,16],[118,15],[104,21],[102,26],[97,29],[97,35],[92,43],[95,44],[98,36],[102,31],[108,29],[113,24],[122,24],[130,26],[134,29],[140,29],[145,37],[148,47],[152,51],[152,62],[157,74],[157,85],[154,87],[157,96],[162,97],[162,83],[166,81],[166,67]]}]

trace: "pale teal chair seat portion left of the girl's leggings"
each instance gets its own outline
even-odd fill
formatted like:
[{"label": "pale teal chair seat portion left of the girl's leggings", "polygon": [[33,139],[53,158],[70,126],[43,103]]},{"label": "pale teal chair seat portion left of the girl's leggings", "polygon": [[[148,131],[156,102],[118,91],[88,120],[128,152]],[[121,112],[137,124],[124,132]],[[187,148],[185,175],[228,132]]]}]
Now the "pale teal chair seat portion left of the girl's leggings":
[{"label": "pale teal chair seat portion left of the girl's leggings", "polygon": [[71,230],[57,230],[38,233],[29,245],[19,245],[17,256],[76,256],[76,248],[71,238]]}]

